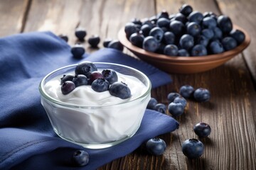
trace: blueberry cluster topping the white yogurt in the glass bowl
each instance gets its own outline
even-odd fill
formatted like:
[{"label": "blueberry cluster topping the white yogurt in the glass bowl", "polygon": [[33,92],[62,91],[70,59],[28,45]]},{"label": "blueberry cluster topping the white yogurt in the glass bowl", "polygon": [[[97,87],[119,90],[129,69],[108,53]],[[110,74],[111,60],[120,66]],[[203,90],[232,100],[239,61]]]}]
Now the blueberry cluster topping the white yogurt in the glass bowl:
[{"label": "blueberry cluster topping the white yogurt in the glass bowl", "polygon": [[127,84],[118,81],[117,72],[113,69],[103,69],[99,72],[95,64],[88,61],[80,62],[75,67],[74,75],[67,74],[60,78],[61,91],[64,95],[82,85],[90,85],[97,92],[110,91],[112,96],[122,99],[132,95]]}]

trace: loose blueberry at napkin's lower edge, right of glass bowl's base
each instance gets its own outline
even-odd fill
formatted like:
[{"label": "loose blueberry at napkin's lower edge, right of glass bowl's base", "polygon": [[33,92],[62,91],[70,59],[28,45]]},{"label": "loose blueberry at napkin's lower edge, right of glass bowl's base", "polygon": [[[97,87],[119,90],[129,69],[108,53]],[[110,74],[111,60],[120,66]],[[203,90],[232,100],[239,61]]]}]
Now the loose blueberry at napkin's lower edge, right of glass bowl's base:
[{"label": "loose blueberry at napkin's lower edge, right of glass bowl's base", "polygon": [[166,150],[166,142],[160,138],[152,138],[146,142],[146,150],[149,154],[161,155]]}]

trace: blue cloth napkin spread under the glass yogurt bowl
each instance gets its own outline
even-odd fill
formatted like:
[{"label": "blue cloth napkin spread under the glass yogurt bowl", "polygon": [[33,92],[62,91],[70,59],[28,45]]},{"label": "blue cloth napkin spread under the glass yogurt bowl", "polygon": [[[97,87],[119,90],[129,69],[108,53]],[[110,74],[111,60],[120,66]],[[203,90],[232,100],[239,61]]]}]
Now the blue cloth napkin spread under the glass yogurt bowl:
[{"label": "blue cloth napkin spread under the glass yogurt bowl", "polygon": [[[85,54],[82,60],[135,67],[149,77],[153,87],[171,82],[168,74],[114,49]],[[107,149],[85,149],[89,164],[73,166],[73,152],[84,148],[55,135],[41,106],[38,85],[54,69],[82,60],[73,58],[70,46],[50,32],[0,38],[0,169],[97,169],[133,152],[149,138],[178,128],[169,115],[146,110],[132,138]]]}]

